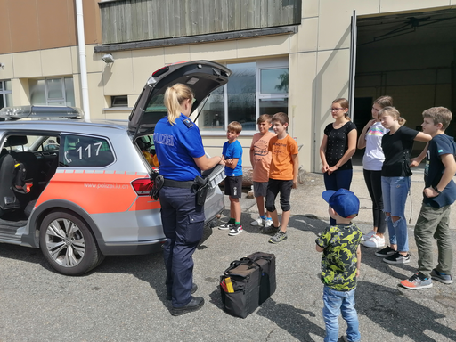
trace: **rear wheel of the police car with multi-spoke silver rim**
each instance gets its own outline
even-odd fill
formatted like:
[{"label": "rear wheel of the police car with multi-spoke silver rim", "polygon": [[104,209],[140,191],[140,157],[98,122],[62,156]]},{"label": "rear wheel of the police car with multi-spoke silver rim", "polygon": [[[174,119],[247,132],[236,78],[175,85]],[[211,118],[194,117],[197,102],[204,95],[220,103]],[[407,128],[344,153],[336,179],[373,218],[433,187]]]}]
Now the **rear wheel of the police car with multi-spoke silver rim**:
[{"label": "rear wheel of the police car with multi-spoke silver rim", "polygon": [[47,261],[59,273],[84,274],[104,259],[87,224],[69,212],[45,216],[39,240]]}]

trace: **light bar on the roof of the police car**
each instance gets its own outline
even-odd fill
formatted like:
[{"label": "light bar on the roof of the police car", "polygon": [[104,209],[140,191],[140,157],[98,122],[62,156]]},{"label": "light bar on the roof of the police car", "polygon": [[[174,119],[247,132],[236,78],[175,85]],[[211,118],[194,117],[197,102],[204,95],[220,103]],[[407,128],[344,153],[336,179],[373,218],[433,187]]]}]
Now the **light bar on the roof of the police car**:
[{"label": "light bar on the roof of the police car", "polygon": [[68,106],[20,106],[4,107],[0,118],[18,120],[20,118],[84,118],[84,111]]}]

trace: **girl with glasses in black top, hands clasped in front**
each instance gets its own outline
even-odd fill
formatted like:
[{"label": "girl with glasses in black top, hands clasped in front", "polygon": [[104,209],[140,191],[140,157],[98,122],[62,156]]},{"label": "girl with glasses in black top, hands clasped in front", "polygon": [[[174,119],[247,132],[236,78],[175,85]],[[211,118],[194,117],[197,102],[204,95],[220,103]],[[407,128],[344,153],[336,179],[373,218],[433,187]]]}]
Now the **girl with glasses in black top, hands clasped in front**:
[{"label": "girl with glasses in black top, hands clasped in front", "polygon": [[[322,173],[326,190],[350,190],[356,150],[356,126],[348,117],[348,101],[344,98],[332,102],[330,112],[335,121],[326,126],[320,146]],[[330,219],[331,225],[336,221]]]}]

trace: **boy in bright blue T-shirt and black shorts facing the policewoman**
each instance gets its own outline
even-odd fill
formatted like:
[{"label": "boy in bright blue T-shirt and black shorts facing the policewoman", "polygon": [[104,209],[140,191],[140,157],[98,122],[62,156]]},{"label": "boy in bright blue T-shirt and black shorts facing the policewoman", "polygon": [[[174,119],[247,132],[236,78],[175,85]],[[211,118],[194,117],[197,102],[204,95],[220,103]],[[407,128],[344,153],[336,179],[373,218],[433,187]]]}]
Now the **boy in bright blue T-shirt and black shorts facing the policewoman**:
[{"label": "boy in bright blue T-shirt and black shorts facing the policewoman", "polygon": [[232,121],[226,131],[227,142],[224,143],[222,152],[225,167],[224,194],[230,197],[230,220],[222,224],[218,229],[230,230],[228,235],[234,236],[242,232],[240,225],[240,196],[242,195],[242,146],[238,142],[238,136],[242,131],[242,125]]}]

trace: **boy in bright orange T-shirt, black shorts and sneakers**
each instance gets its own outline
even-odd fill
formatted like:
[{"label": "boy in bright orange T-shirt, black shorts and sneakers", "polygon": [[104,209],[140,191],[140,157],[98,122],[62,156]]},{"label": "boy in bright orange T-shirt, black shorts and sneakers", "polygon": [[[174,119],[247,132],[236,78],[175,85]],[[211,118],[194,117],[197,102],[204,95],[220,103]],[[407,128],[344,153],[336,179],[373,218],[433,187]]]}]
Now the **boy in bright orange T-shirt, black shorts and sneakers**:
[{"label": "boy in bright orange T-shirt, black shorts and sneakers", "polygon": [[[297,142],[287,133],[288,126],[289,117],[287,114],[280,112],[273,115],[273,130],[277,136],[269,141],[272,160],[266,193],[266,210],[271,213],[273,224],[263,229],[265,234],[274,233],[274,236],[269,240],[271,243],[279,243],[288,238],[287,226],[291,209],[289,197],[291,189],[297,188],[297,170],[299,167]],[[281,224],[274,206],[279,192],[281,192]]]}]

